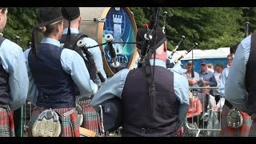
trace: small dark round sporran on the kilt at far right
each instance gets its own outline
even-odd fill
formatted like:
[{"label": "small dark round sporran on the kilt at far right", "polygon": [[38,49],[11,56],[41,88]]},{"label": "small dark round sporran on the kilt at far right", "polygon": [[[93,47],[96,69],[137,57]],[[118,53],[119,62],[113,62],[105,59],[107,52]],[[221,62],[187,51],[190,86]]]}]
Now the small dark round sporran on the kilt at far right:
[{"label": "small dark round sporran on the kilt at far right", "polygon": [[238,129],[242,126],[242,114],[240,110],[231,109],[226,117],[227,125],[230,128]]}]

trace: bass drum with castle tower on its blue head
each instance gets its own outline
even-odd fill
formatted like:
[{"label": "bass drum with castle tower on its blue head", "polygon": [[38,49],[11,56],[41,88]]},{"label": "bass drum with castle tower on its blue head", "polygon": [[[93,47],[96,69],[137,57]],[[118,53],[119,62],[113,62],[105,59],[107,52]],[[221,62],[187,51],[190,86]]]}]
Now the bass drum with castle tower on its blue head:
[{"label": "bass drum with castle tower on its blue head", "polygon": [[[134,15],[127,7],[80,7],[82,22],[79,30],[93,38],[98,44],[106,42],[105,35],[112,34],[114,42],[135,42],[137,26]],[[115,74],[111,66],[109,46],[100,46],[102,62],[108,76]],[[134,43],[114,43],[119,70],[133,69],[137,56],[137,47]]]}]

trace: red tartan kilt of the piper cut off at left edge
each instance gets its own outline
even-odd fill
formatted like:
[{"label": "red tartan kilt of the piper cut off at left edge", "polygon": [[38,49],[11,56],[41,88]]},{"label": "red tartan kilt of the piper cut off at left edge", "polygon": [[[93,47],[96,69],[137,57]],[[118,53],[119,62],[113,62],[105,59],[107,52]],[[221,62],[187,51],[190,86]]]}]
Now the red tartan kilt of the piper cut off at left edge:
[{"label": "red tartan kilt of the piper cut off at left edge", "polygon": [[9,106],[0,106],[0,137],[15,137],[14,118]]}]

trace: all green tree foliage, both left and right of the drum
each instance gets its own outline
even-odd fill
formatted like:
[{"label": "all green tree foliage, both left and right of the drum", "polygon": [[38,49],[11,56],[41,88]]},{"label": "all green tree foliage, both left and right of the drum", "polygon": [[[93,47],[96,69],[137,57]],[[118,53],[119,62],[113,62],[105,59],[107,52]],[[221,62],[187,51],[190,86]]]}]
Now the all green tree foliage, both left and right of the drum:
[{"label": "all green tree foliage, both left and right of the drum", "polygon": [[[152,7],[130,7],[138,27],[149,23]],[[182,35],[186,39],[179,50],[187,50],[194,42],[198,49],[217,49],[240,42],[244,37],[246,22],[250,22],[250,34],[256,29],[254,7],[161,7],[158,26],[162,27],[163,12],[166,11],[166,35],[168,50],[173,50]],[[7,23],[3,34],[14,41],[20,37],[19,45],[26,50],[36,23],[37,8],[8,8]]]}]

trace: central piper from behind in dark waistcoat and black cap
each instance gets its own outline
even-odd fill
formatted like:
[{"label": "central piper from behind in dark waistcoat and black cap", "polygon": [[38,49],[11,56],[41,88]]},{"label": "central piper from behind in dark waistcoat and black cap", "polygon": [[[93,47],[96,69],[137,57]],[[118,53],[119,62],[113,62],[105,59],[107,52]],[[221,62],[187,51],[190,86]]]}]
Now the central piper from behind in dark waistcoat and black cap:
[{"label": "central piper from behind in dark waistcoat and black cap", "polygon": [[[136,41],[144,41],[145,34],[146,28],[138,29]],[[117,128],[114,125],[117,124],[122,126],[123,137],[169,137],[186,120],[190,105],[188,81],[166,69],[166,37],[159,28],[156,36],[146,66],[120,70],[94,95],[92,105],[98,112],[102,111],[106,130]],[[141,45],[137,47],[142,49]],[[155,59],[152,51],[156,53]],[[111,99],[113,102],[108,102]],[[115,107],[119,109],[111,109]]]}]

